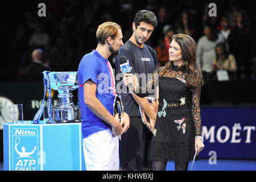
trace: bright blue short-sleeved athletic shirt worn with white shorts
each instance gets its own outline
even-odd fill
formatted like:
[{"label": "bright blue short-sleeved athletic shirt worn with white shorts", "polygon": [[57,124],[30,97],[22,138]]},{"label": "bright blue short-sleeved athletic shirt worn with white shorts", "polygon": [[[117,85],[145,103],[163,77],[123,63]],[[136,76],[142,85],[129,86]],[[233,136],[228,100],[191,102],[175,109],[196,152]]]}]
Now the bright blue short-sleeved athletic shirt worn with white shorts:
[{"label": "bright blue short-sleeved athletic shirt worn with white shorts", "polygon": [[84,83],[88,80],[97,85],[96,97],[101,104],[113,114],[113,102],[115,98],[114,77],[112,67],[107,59],[96,50],[82,57],[78,68],[80,109],[82,119],[83,138],[101,130],[111,129],[111,126],[97,117],[84,102]]}]

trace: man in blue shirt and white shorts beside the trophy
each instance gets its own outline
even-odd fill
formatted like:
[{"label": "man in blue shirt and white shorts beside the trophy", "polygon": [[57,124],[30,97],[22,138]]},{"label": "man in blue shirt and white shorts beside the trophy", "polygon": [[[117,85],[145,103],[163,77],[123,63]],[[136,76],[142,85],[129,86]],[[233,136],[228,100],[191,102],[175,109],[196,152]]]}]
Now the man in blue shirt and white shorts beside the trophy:
[{"label": "man in blue shirt and white shorts beside the trophy", "polygon": [[129,116],[113,117],[115,78],[108,61],[123,45],[117,23],[105,22],[96,32],[96,50],[86,54],[78,68],[82,135],[87,170],[118,170],[118,136],[129,128]]}]

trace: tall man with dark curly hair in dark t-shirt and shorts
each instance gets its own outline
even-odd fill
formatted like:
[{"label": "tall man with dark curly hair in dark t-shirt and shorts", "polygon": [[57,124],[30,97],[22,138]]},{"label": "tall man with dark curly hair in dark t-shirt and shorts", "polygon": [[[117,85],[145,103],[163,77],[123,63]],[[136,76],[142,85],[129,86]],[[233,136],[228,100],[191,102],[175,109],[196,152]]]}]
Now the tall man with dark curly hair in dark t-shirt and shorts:
[{"label": "tall man with dark curly hair in dark t-shirt and shorts", "polygon": [[[119,55],[115,56],[116,73],[121,73],[119,67],[120,56],[125,56],[129,60],[133,74],[144,74],[147,77],[148,73],[153,73],[158,68],[155,50],[145,44],[157,24],[156,16],[152,11],[138,11],[133,22],[133,35],[120,48]],[[140,86],[145,85],[141,84]],[[118,91],[119,93],[121,92],[120,90]],[[139,107],[133,96],[129,93],[120,94],[125,112],[130,116],[130,129],[122,134],[120,143],[120,169],[148,170],[151,165],[147,161],[147,152],[152,133],[143,125]]]}]

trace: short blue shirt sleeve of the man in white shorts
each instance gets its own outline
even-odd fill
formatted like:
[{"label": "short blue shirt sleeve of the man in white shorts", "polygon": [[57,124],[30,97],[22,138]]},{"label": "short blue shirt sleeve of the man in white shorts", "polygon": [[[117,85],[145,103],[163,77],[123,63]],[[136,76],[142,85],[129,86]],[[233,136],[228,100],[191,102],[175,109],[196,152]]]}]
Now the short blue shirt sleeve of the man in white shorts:
[{"label": "short blue shirt sleeve of the man in white shorts", "polygon": [[97,77],[99,72],[98,60],[93,55],[86,55],[81,60],[80,67],[82,75],[82,85],[88,80],[98,84]]}]

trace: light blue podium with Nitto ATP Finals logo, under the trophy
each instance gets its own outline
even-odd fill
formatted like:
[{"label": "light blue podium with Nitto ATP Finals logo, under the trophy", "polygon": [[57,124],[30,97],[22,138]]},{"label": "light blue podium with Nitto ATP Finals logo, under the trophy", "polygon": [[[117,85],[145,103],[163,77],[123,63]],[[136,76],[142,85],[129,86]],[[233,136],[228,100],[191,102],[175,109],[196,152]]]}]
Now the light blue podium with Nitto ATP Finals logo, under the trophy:
[{"label": "light blue podium with Nitto ATP Finals logo, under the trophy", "polygon": [[81,171],[81,123],[3,124],[5,171]]}]

